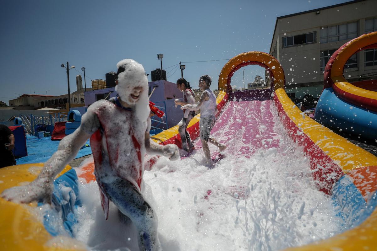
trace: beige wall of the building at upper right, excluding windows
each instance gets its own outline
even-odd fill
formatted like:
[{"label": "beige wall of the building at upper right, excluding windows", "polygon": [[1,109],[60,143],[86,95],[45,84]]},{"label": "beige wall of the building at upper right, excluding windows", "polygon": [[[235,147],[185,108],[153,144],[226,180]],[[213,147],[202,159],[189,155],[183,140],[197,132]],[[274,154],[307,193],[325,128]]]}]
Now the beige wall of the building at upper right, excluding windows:
[{"label": "beige wall of the building at upper right, excluding windows", "polygon": [[[308,83],[311,83],[308,85],[323,85],[323,72],[320,71],[320,52],[329,49],[339,49],[340,46],[349,40],[320,43],[320,29],[322,27],[357,21],[357,36],[359,36],[365,33],[365,19],[373,17],[377,17],[376,0],[366,0],[335,8],[323,9],[320,10],[319,14],[313,11],[278,19],[271,43],[270,54],[273,54],[274,45],[276,44],[277,55],[273,56],[279,60],[284,69],[286,87],[297,87],[303,83],[305,85]],[[316,32],[313,44],[282,47],[283,37],[308,32]],[[377,66],[364,67],[364,52],[358,54],[358,68],[346,69],[346,78],[348,75],[360,75],[377,70]],[[289,85],[290,83],[291,85]]]}]

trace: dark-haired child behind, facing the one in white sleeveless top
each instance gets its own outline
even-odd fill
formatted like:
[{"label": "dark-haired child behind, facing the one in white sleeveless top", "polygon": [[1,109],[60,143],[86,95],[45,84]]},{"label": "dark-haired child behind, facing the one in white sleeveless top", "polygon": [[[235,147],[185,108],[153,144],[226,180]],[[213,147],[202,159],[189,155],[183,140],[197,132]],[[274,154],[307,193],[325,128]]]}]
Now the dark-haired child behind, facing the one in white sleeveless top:
[{"label": "dark-haired child behind, facing the one in white sleeveless top", "polygon": [[[190,84],[184,78],[177,80],[177,88],[183,93],[183,101],[176,99],[174,100],[175,105],[193,105],[195,104],[195,94],[191,90]],[[190,111],[188,109],[183,110],[183,118],[178,123],[178,132],[181,136],[182,149],[186,152],[191,153],[195,146],[192,143],[190,134],[187,132],[187,126],[190,123],[190,120],[195,117],[195,111]]]}]

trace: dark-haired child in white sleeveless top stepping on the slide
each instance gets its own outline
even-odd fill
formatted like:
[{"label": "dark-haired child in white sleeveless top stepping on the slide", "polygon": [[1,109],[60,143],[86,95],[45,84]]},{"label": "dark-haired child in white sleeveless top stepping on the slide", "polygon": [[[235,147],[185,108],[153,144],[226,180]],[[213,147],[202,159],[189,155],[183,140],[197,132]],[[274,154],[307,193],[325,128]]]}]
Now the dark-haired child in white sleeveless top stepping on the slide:
[{"label": "dark-haired child in white sleeveless top stepping on the slide", "polygon": [[208,148],[208,141],[219,148],[219,152],[224,152],[227,148],[225,145],[219,143],[215,138],[210,137],[211,130],[215,125],[215,116],[218,113],[216,107],[216,96],[213,91],[210,90],[212,79],[208,75],[201,76],[199,79],[199,88],[203,91],[199,101],[195,105],[184,105],[181,109],[187,109],[191,111],[201,110],[199,128],[200,128],[200,140],[202,141],[203,151],[205,155],[205,165],[213,166],[211,159],[211,152]]}]

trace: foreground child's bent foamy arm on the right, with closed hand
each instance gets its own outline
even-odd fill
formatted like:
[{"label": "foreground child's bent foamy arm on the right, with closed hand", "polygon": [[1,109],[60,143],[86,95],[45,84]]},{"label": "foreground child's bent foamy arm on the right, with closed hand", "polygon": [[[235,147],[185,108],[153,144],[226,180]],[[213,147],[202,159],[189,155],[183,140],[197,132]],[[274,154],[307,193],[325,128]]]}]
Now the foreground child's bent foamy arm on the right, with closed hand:
[{"label": "foreground child's bent foamy arm on the right, with closed hand", "polygon": [[150,140],[149,137],[149,131],[150,131],[150,120],[147,121],[147,131],[145,132],[145,149],[147,154],[149,155],[157,155],[161,154],[165,157],[169,158],[170,160],[178,160],[179,158],[179,152],[178,152],[178,146],[174,144],[168,144],[168,145],[159,145],[155,143],[155,141]]}]

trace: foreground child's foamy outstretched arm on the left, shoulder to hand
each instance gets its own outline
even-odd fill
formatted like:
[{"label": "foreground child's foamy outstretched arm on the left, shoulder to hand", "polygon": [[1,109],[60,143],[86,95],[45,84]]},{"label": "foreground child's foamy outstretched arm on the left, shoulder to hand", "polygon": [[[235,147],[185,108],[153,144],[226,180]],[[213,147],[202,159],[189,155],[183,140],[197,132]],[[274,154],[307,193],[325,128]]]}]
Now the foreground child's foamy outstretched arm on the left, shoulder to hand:
[{"label": "foreground child's foamy outstretched arm on the left, shoulder to hand", "polygon": [[60,141],[58,150],[44,163],[43,169],[34,181],[26,186],[4,190],[1,196],[8,201],[22,203],[40,199],[48,203],[51,202],[55,176],[64,169],[69,161],[73,160],[81,146],[90,137],[91,132],[98,129],[99,125],[97,114],[88,110],[82,118],[80,127]]}]

